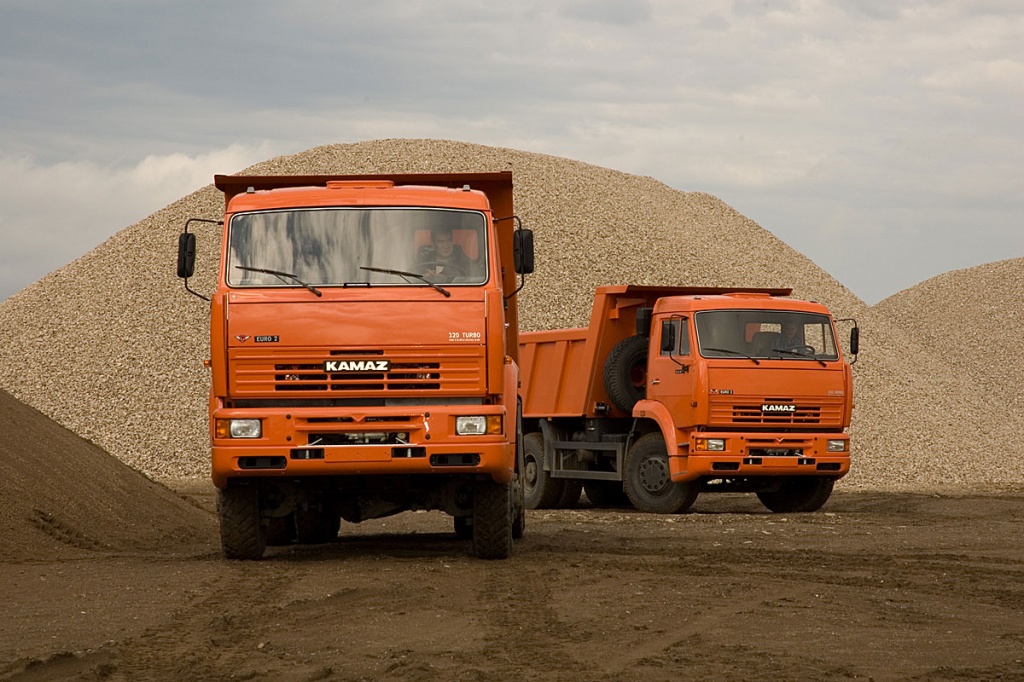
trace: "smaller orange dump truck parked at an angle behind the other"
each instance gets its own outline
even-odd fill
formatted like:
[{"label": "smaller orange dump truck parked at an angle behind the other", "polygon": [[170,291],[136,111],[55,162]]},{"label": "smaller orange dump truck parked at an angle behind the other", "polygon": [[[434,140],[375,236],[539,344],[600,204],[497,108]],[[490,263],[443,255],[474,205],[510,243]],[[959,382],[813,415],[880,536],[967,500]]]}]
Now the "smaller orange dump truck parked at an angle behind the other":
[{"label": "smaller orange dump truck parked at an angle behind the other", "polygon": [[[814,511],[850,469],[850,365],[788,289],[599,287],[589,328],[519,335],[527,508]],[[850,332],[856,354],[859,334]]]}]

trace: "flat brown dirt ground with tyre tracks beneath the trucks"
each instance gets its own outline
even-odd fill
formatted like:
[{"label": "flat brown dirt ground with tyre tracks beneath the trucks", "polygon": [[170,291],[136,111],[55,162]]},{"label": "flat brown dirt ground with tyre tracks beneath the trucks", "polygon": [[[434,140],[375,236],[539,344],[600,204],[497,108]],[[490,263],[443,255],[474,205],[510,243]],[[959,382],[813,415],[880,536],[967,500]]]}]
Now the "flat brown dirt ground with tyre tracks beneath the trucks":
[{"label": "flat brown dirt ground with tyre tracks beneath the trucks", "polygon": [[228,562],[174,487],[201,531],[0,560],[0,680],[1024,680],[1024,495],[530,511],[508,561],[407,513]]}]

